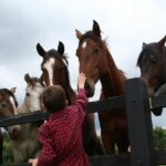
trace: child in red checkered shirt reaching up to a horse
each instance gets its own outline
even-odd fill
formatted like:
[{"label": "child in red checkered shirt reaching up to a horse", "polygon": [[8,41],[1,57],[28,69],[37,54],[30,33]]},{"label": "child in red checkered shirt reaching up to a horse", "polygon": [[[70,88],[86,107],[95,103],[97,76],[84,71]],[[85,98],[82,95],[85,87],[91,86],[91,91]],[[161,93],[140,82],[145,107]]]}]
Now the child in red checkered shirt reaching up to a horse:
[{"label": "child in red checkered shirt reaching up to a horse", "polygon": [[87,104],[85,80],[85,74],[81,73],[77,79],[79,94],[71,106],[66,106],[62,86],[49,86],[43,92],[42,102],[51,115],[40,127],[42,151],[38,159],[30,160],[33,166],[89,166],[82,144],[82,124]]}]

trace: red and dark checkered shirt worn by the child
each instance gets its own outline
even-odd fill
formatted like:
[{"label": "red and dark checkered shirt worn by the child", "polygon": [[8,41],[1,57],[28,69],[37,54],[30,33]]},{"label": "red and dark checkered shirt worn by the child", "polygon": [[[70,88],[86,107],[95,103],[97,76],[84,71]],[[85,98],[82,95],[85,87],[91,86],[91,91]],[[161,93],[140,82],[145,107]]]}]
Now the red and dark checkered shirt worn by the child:
[{"label": "red and dark checkered shirt worn by the child", "polygon": [[38,166],[89,166],[82,144],[86,104],[85,90],[81,89],[73,105],[51,114],[40,127],[42,151]]}]

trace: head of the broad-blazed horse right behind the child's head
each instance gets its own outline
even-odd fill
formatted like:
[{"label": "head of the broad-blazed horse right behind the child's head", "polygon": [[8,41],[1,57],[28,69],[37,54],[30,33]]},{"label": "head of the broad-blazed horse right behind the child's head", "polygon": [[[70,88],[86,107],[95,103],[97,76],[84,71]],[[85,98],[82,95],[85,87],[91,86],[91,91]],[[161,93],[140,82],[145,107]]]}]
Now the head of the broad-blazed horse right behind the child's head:
[{"label": "head of the broad-blazed horse right behind the child's head", "polygon": [[45,51],[38,43],[37,51],[43,58],[41,70],[45,85],[63,85],[64,81],[66,80],[65,73],[68,71],[68,60],[64,54],[64,44],[62,42],[59,42],[58,50],[52,49]]}]

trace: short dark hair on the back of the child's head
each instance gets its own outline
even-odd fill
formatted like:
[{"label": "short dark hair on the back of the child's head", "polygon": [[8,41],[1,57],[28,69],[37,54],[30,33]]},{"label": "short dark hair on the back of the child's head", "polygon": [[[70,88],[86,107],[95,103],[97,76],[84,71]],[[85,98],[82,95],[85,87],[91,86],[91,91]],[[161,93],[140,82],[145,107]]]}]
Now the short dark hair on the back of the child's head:
[{"label": "short dark hair on the back of the child's head", "polygon": [[48,112],[54,113],[66,106],[66,96],[61,85],[52,85],[44,90],[42,103]]}]

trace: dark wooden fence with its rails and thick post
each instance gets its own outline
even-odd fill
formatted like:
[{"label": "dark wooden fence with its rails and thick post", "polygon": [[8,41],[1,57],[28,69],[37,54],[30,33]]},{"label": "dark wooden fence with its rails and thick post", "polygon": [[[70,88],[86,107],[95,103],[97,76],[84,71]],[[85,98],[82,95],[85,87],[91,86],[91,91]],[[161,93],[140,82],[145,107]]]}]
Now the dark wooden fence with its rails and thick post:
[{"label": "dark wooden fence with its rails and thick post", "polygon": [[[141,79],[131,79],[125,82],[123,96],[116,96],[104,101],[90,102],[86,106],[87,113],[110,111],[126,107],[128,131],[132,153],[95,156],[90,158],[92,166],[157,166],[166,164],[166,152],[154,151],[153,126],[151,108],[166,106],[166,96],[149,98],[147,90]],[[0,118],[0,127],[14,124],[23,124],[35,121],[44,121],[46,112],[34,112]],[[158,117],[159,118],[159,117]],[[30,166],[30,164],[12,165]]]}]

